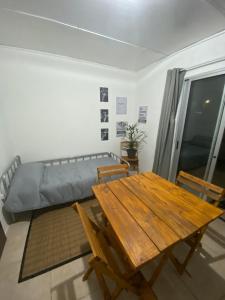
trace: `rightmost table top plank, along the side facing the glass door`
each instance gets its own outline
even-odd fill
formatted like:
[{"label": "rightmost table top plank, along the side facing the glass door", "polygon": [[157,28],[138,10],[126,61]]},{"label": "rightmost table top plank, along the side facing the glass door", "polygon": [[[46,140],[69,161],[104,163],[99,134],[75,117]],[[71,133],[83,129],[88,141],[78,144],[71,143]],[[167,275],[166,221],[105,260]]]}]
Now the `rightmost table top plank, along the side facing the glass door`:
[{"label": "rightmost table top plank, along the side facing the glass door", "polygon": [[[160,191],[163,190],[174,196],[169,197],[169,200],[176,201],[182,208],[188,208],[189,211],[191,210],[192,213],[194,212],[202,218],[205,223],[211,222],[223,214],[223,211],[218,207],[206,201],[200,201],[199,197],[152,172],[145,172],[142,175],[151,180],[151,184],[157,183]],[[179,202],[176,199],[179,199]]]}]

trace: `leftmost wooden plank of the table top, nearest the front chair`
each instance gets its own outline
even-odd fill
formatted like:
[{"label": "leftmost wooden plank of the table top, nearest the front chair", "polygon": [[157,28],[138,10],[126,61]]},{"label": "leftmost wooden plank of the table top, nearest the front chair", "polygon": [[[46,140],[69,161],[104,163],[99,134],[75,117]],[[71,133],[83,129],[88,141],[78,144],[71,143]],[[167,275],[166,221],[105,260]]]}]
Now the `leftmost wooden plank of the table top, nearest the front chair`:
[{"label": "leftmost wooden plank of the table top, nearest the front chair", "polygon": [[105,184],[94,186],[93,192],[134,269],[159,255],[154,243]]}]

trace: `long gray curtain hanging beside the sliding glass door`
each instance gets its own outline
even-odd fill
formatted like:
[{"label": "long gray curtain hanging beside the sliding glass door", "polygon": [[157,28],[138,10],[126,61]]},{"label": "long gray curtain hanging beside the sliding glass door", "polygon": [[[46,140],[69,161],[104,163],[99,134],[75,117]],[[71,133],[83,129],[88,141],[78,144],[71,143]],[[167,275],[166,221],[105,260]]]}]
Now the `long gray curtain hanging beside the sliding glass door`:
[{"label": "long gray curtain hanging beside the sliding glass door", "polygon": [[185,71],[181,69],[172,69],[167,72],[153,164],[153,172],[164,178],[169,176],[175,118],[184,75]]}]

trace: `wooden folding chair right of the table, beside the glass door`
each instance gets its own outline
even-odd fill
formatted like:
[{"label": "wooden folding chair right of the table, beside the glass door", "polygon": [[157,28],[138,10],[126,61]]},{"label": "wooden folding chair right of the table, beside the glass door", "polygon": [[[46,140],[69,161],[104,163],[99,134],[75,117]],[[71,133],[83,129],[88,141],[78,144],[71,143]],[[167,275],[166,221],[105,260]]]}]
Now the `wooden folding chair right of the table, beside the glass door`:
[{"label": "wooden folding chair right of the table, beside the glass door", "polygon": [[[225,196],[225,189],[221,188],[215,184],[206,182],[203,179],[195,177],[191,174],[188,174],[184,171],[180,171],[176,184],[179,186],[187,186],[193,191],[201,193],[203,196],[207,196],[212,200],[212,205],[218,206],[220,201]],[[184,259],[183,263],[180,263],[173,254],[171,254],[170,258],[173,261],[177,271],[182,274],[191,259],[192,255],[195,252],[195,249],[198,246],[201,246],[201,239],[203,234],[205,233],[207,226],[196,232],[192,237],[185,240],[185,242],[190,246],[190,250]]]}]

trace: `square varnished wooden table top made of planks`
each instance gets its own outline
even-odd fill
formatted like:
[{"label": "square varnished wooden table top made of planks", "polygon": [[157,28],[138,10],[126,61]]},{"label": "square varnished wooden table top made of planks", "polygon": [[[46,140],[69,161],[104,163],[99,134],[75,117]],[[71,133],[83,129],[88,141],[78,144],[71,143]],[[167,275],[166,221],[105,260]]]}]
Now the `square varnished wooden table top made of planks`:
[{"label": "square varnished wooden table top made of planks", "polygon": [[151,172],[96,185],[93,192],[134,269],[223,214]]}]

